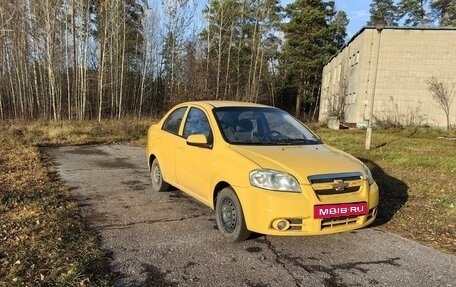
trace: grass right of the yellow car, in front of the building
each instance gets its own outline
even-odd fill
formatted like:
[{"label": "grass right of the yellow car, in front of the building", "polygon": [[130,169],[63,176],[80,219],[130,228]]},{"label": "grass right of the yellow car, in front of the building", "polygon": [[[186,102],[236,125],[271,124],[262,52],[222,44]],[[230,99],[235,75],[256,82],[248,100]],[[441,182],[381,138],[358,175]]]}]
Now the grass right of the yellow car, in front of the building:
[{"label": "grass right of the yellow car, in front of the building", "polygon": [[[362,159],[380,187],[377,225],[456,254],[456,132],[316,128],[322,139]],[[442,138],[443,137],[443,138]]]}]

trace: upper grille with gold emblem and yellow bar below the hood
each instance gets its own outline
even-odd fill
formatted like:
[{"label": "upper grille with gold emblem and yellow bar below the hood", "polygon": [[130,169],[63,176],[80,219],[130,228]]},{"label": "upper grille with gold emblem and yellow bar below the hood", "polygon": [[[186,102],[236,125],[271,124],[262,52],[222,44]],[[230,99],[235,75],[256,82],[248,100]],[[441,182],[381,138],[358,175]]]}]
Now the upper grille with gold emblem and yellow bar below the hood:
[{"label": "upper grille with gold emblem and yellow bar below the hood", "polygon": [[358,192],[364,179],[362,173],[351,172],[312,175],[308,180],[317,195],[334,195]]}]

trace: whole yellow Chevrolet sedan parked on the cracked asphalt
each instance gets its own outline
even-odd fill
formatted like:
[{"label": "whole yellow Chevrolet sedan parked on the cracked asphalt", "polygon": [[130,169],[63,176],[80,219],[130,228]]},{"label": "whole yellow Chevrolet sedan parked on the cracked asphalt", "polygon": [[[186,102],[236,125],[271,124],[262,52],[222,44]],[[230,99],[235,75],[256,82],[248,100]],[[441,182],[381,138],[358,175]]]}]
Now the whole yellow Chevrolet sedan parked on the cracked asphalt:
[{"label": "whole yellow Chevrolet sedan parked on the cracked asphalt", "polygon": [[369,169],[270,106],[177,105],[149,128],[147,161],[154,191],[172,185],[215,209],[218,228],[233,241],[251,232],[348,231],[377,215]]}]

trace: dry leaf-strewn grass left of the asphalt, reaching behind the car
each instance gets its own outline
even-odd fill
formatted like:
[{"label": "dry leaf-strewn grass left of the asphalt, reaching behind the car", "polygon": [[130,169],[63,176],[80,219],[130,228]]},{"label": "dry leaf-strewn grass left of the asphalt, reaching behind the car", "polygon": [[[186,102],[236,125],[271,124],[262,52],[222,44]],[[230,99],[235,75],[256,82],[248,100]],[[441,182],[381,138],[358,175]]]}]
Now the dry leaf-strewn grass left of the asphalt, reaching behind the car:
[{"label": "dry leaf-strewn grass left of the asphalt, reaching behind the car", "polygon": [[1,123],[0,286],[112,286],[109,254],[37,145],[144,141],[149,121]]}]

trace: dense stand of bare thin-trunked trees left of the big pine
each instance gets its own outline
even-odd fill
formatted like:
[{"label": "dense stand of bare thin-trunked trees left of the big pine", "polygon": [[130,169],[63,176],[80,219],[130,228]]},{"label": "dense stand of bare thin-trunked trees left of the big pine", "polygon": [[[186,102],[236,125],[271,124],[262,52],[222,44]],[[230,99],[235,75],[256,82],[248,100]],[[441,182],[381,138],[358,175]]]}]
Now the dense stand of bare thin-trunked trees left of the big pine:
[{"label": "dense stand of bare thin-trunked trees left of the big pine", "polygon": [[205,2],[0,0],[0,120],[102,120],[187,99],[269,100],[276,1],[211,0],[207,23],[195,20]]}]

